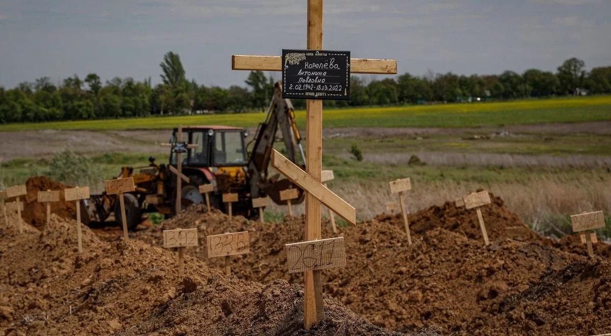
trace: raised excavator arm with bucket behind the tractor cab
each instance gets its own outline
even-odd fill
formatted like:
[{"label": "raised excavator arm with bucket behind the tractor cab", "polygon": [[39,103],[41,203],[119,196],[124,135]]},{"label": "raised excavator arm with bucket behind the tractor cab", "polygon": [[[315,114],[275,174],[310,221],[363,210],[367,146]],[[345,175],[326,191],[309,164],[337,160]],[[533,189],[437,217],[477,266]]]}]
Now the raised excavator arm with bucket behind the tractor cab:
[{"label": "raised excavator arm with bucket behind the tractor cab", "polygon": [[[269,104],[265,122],[259,124],[252,140],[254,147],[248,164],[252,197],[267,194],[274,202],[281,204],[285,202],[280,201],[280,190],[288,189],[291,186],[298,187],[289,180],[279,180],[279,174],[268,176],[269,159],[279,129],[284,141],[285,155],[293,163],[304,168],[302,163],[305,163],[305,156],[301,146],[301,134],[295,123],[293,104],[290,100],[282,98],[282,82],[276,82],[274,85],[274,96]],[[293,203],[303,201],[303,192],[301,189],[299,191],[299,198],[296,200],[298,202]]]}]

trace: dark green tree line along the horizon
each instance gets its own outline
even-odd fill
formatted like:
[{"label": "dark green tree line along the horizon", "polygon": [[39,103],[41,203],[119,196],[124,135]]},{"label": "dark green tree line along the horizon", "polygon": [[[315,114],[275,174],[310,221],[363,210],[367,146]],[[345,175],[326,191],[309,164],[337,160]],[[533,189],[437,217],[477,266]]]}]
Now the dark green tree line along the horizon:
[{"label": "dark green tree line along the horizon", "polygon": [[[13,89],[0,87],[0,122],[86,120],[148,115],[227,113],[263,110],[271,99],[274,80],[262,71],[251,71],[247,87],[204,86],[188,81],[178,54],[164,55],[162,82],[152,86],[150,78],[115,77],[102,82],[90,73],[74,75],[61,84],[48,77],[22,82]],[[409,73],[382,80],[351,78],[351,100],[325,101],[326,106],[371,106],[510,100],[611,93],[611,67],[585,70],[583,60],[565,60],[556,73],[530,69],[519,74],[456,75],[454,73],[413,76]],[[296,108],[303,100],[293,100]]]}]

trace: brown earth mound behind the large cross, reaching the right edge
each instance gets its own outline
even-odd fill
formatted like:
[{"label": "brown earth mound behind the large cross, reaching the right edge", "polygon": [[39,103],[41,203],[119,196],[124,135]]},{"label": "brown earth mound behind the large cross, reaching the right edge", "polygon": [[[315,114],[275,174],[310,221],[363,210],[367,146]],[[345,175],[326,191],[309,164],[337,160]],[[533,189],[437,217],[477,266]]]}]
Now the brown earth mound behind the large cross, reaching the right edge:
[{"label": "brown earth mound behind the large cross, reaching the right edge", "polygon": [[[611,279],[602,276],[609,261],[541,244],[544,238],[524,226],[503,227],[503,223],[518,227],[521,222],[497,198],[484,211],[490,219],[488,247],[479,236],[475,214],[470,218],[466,210],[450,203],[421,213],[430,214],[433,224],[425,225],[425,219],[414,214],[412,246],[407,244],[403,222],[373,220],[340,228],[348,266],[323,271],[325,293],[376,325],[397,331],[426,326],[441,326],[447,334],[481,335],[609,331]],[[265,224],[218,211],[207,213],[205,206],[195,205],[162,227],[136,236],[160,245],[161,230],[176,227],[199,228],[200,246],[189,247],[186,253],[218,269],[222,258],[207,258],[205,236],[248,230],[251,254],[232,257],[233,274],[244,280],[302,283],[301,274],[288,274],[284,251],[285,243],[302,241],[302,218]],[[324,222],[323,237],[331,236],[330,225]]]}]

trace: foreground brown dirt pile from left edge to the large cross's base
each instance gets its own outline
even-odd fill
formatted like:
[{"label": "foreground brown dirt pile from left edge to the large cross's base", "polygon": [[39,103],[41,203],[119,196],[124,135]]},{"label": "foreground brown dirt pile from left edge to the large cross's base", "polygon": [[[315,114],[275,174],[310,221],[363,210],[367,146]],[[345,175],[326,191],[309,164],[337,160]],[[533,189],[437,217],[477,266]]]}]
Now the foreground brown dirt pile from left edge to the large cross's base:
[{"label": "foreground brown dirt pile from left edge to the large cross's base", "polygon": [[397,334],[330,296],[325,320],[305,331],[298,285],[244,282],[191,257],[179,277],[170,250],[82,233],[78,254],[75,221],[0,227],[0,334]]}]

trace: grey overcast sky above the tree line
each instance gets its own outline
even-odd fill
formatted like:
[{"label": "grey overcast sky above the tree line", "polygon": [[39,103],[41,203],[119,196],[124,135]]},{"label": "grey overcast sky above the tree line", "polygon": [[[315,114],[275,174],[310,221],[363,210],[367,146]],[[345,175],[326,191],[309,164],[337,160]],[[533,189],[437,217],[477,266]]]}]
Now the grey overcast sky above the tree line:
[{"label": "grey overcast sky above the tree line", "polygon": [[[0,86],[91,72],[156,83],[167,51],[188,79],[244,86],[231,55],[304,49],[306,3],[0,0]],[[324,48],[415,75],[611,65],[611,0],[324,0]]]}]

